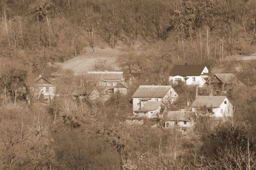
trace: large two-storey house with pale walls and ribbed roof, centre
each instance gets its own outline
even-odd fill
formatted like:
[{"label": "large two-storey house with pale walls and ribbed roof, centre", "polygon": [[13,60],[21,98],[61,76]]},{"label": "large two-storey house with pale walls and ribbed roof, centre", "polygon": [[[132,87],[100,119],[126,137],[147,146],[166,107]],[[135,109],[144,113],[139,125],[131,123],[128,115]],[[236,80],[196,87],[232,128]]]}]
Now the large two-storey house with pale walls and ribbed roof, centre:
[{"label": "large two-storey house with pale walls and ribbed roof, centre", "polygon": [[171,85],[140,85],[131,97],[133,111],[137,111],[143,108],[147,102],[172,104],[177,100],[178,94]]}]

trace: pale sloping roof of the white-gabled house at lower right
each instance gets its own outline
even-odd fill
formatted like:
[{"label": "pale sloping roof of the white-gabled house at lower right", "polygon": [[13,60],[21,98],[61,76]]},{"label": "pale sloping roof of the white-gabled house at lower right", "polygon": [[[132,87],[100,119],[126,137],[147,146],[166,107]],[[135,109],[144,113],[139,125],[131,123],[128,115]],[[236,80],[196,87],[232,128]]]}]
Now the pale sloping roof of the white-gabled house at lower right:
[{"label": "pale sloping roof of the white-gabled house at lower right", "polygon": [[227,96],[198,96],[191,107],[218,108]]}]

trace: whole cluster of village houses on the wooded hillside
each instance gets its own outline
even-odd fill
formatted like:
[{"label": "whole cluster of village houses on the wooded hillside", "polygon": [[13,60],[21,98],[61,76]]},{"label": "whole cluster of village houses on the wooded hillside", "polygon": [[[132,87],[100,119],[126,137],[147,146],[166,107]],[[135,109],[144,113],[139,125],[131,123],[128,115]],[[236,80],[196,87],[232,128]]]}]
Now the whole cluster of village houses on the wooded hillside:
[{"label": "whole cluster of village houses on the wooded hillside", "polygon": [[[88,71],[87,81],[95,85],[90,91],[90,99],[98,99],[119,92],[128,93],[131,84],[136,81],[133,75],[124,79],[122,71]],[[195,101],[186,108],[171,111],[172,105],[179,99],[173,85],[183,82],[188,86],[202,88],[208,86],[212,93],[208,96],[196,96]],[[207,65],[175,65],[169,74],[169,85],[140,85],[132,97],[132,116],[128,116],[129,124],[144,124],[144,120],[158,119],[165,127],[192,127],[194,118],[210,116],[223,118],[233,116],[233,105],[227,94],[233,86],[245,85],[233,74],[210,74]],[[53,99],[55,86],[42,76],[35,79],[30,90],[36,98]],[[197,92],[196,92],[197,95]],[[73,94],[74,98],[86,97]]]}]

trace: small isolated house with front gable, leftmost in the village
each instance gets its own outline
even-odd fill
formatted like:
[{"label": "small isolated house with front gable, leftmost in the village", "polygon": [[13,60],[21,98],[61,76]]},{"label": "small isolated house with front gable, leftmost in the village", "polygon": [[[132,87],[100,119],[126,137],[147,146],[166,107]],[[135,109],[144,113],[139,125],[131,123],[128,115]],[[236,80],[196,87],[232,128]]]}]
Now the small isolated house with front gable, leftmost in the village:
[{"label": "small isolated house with front gable, leftmost in the village", "polygon": [[30,86],[30,94],[36,99],[53,99],[55,96],[55,86],[41,75],[37,77]]}]

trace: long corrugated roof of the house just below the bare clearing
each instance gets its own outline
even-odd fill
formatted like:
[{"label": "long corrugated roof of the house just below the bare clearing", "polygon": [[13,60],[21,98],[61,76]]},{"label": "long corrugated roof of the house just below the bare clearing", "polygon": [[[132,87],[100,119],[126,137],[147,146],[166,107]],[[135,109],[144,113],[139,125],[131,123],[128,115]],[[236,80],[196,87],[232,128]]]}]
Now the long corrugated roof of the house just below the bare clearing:
[{"label": "long corrugated roof of the house just below the bare clearing", "polygon": [[88,71],[87,76],[90,80],[122,80],[123,71]]}]

